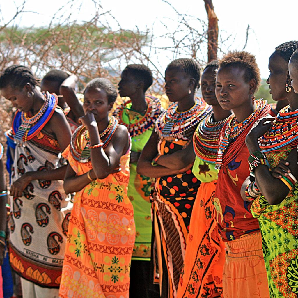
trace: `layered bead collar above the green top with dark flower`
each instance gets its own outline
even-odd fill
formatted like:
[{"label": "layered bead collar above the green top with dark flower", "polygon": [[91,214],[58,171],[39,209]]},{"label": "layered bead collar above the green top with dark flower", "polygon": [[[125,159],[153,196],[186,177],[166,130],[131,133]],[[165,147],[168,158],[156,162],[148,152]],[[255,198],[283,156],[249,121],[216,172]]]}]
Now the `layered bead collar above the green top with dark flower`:
[{"label": "layered bead collar above the green top with dark flower", "polygon": [[218,122],[213,122],[212,117],[213,113],[203,119],[193,135],[193,148],[195,154],[206,162],[216,161],[219,134],[224,124],[234,117],[234,114]]}]

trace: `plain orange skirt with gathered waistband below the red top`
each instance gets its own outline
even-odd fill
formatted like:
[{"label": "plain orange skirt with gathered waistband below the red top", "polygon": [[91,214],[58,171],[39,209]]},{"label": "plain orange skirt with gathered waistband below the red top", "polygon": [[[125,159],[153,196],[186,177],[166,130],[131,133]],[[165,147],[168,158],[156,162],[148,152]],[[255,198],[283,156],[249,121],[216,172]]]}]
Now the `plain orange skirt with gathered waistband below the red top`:
[{"label": "plain orange skirt with gathered waistband below the red top", "polygon": [[225,298],[269,298],[261,233],[226,242]]}]

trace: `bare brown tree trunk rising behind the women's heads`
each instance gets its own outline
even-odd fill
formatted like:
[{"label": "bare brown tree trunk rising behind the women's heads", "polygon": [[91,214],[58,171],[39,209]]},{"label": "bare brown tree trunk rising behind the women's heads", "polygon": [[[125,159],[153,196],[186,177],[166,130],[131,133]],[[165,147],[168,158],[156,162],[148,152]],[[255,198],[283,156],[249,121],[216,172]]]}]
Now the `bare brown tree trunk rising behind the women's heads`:
[{"label": "bare brown tree trunk rising behind the women's heads", "polygon": [[214,11],[212,0],[204,0],[208,15],[208,62],[217,59],[218,18]]}]

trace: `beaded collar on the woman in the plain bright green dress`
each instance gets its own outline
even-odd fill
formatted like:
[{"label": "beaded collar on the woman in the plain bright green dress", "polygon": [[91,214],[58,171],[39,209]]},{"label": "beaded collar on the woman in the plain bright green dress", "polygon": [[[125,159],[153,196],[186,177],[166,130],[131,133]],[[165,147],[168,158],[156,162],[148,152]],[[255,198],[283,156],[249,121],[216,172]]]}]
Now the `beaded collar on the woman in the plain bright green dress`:
[{"label": "beaded collar on the woman in the plain bright green dress", "polygon": [[144,116],[139,119],[139,121],[136,121],[134,123],[125,123],[122,120],[123,113],[127,111],[127,105],[131,103],[131,100],[126,101],[125,103],[122,103],[122,105],[119,105],[113,115],[119,119],[119,124],[125,125],[128,128],[129,134],[131,137],[139,136],[140,134],[143,134],[145,131],[147,131],[149,128],[151,128],[158,118],[160,114],[160,101],[153,97],[153,96],[146,96],[145,100],[147,102],[147,110]]}]

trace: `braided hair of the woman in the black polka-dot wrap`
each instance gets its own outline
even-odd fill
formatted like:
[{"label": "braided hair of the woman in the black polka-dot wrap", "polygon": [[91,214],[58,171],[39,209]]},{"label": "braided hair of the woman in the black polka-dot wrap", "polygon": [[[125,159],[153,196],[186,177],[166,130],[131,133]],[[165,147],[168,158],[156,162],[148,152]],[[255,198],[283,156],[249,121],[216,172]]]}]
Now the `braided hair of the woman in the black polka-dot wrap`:
[{"label": "braided hair of the woman in the black polka-dot wrap", "polygon": [[188,58],[179,58],[173,60],[168,66],[167,69],[173,68],[180,68],[183,70],[187,75],[190,75],[192,78],[195,79],[195,89],[200,88],[200,66],[199,64],[193,60]]}]

